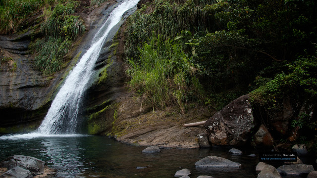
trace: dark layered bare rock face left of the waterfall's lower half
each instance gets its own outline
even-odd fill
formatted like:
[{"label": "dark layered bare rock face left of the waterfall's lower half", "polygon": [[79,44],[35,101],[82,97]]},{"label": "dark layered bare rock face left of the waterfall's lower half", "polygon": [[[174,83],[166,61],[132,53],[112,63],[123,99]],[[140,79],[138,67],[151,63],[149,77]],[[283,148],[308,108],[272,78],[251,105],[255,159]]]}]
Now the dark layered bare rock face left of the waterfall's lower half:
[{"label": "dark layered bare rock face left of the waterfall's lower half", "polygon": [[41,121],[53,86],[58,84],[54,76],[43,76],[35,69],[34,58],[26,51],[30,43],[28,33],[19,37],[0,36],[1,132],[10,126]]}]

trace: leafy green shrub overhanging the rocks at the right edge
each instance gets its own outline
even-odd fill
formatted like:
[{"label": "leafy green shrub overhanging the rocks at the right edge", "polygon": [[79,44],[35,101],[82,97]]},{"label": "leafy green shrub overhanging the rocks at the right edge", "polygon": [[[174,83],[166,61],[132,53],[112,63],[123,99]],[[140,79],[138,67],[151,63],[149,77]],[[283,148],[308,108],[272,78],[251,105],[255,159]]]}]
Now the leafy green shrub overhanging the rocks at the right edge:
[{"label": "leafy green shrub overhanging the rocks at the right edge", "polygon": [[317,58],[301,56],[285,66],[289,73],[277,74],[273,80],[250,93],[254,102],[270,109],[279,107],[285,95],[317,98]]}]

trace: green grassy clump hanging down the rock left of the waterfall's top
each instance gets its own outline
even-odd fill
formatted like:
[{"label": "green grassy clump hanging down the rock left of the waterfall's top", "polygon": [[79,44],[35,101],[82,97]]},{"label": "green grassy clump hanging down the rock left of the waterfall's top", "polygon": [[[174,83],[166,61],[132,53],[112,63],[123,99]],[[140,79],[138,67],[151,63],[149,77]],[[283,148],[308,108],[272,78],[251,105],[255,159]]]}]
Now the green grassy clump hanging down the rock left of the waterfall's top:
[{"label": "green grassy clump hanging down the rock left of the waterfall's top", "polygon": [[53,10],[47,9],[48,16],[41,25],[45,38],[38,39],[34,48],[37,52],[36,66],[45,74],[59,71],[63,66],[63,58],[71,48],[71,44],[85,31],[84,21],[70,15],[75,12],[78,2],[67,1],[57,3]]}]

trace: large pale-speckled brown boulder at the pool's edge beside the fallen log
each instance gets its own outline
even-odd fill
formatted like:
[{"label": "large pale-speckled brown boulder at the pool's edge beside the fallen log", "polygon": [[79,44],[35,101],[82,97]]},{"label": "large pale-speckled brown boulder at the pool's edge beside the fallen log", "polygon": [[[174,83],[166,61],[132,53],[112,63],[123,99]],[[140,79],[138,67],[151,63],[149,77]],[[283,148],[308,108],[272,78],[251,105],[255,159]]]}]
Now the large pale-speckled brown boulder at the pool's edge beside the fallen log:
[{"label": "large pale-speckled brown boulder at the pool's edge beside the fallen log", "polygon": [[243,95],[214,114],[205,124],[215,145],[244,145],[256,126],[249,95]]}]

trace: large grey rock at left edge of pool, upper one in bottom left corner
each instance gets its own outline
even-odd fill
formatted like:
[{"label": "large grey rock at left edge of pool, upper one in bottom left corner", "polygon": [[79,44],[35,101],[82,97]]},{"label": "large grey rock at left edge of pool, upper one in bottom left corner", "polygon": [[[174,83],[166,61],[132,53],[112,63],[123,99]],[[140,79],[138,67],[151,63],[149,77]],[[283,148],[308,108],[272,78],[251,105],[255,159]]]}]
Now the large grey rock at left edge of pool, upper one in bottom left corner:
[{"label": "large grey rock at left edge of pool, upper one in bottom left corner", "polygon": [[8,170],[19,166],[30,170],[34,174],[43,174],[44,165],[45,162],[40,159],[23,155],[10,156],[0,163],[0,167],[7,168]]}]

